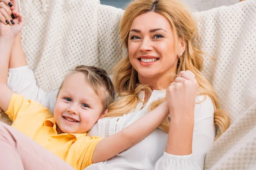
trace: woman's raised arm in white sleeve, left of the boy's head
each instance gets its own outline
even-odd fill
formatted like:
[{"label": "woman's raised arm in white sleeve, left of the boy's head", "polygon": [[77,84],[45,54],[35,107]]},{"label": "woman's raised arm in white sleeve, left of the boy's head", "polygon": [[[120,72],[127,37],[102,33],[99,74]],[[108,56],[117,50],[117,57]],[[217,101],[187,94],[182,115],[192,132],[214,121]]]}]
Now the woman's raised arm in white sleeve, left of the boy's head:
[{"label": "woman's raised arm in white sleeve, left of the boy's head", "polygon": [[49,108],[53,113],[58,91],[45,93],[36,85],[35,76],[29,69],[23,53],[20,34],[15,37],[9,61],[7,86],[16,94],[21,94],[27,99],[32,99]]}]

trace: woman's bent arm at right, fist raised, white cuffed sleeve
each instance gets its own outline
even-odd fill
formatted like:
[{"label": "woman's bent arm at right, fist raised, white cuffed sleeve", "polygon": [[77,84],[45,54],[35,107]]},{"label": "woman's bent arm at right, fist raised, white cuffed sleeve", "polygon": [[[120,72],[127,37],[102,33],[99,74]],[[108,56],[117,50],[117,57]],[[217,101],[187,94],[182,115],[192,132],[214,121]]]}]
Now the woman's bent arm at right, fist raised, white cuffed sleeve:
[{"label": "woman's bent arm at right, fist raised, white cuffed sleeve", "polygon": [[[203,120],[201,118],[198,119],[198,114],[201,116],[202,115],[206,116],[209,114],[213,114],[214,111],[212,109],[213,106],[212,106],[211,100],[210,100],[210,103],[211,103],[210,106],[212,107],[205,108],[203,107],[203,105],[200,105],[199,109],[195,107],[195,103],[199,102],[196,100],[197,89],[198,89],[198,83],[195,80],[195,75],[191,71],[182,71],[180,75],[175,79],[175,81],[171,83],[168,90],[166,91],[166,99],[168,101],[168,105],[170,109],[171,122],[170,122],[169,134],[168,134],[168,141],[166,145],[166,151],[164,153],[164,156],[162,156],[160,160],[157,161],[155,169],[162,169],[162,168],[163,169],[171,168],[176,170],[180,170],[180,169],[200,170],[201,168],[203,169],[204,157],[207,151],[203,149],[204,154],[202,155],[200,152],[198,152],[197,149],[196,149],[197,151],[194,150],[195,147],[192,147],[192,143],[193,145],[196,144],[195,141],[197,142],[200,141],[202,139],[201,137],[206,135],[204,133],[204,130],[207,129],[207,126],[199,127],[198,129],[198,122],[202,122]],[[201,99],[201,101],[203,101],[203,99]],[[204,113],[200,114],[202,111]],[[197,119],[197,121],[195,121],[195,118]],[[212,127],[208,129],[214,132],[213,116],[212,116],[212,119],[207,119],[207,120],[209,120],[210,122],[207,122],[207,121],[204,121],[204,122],[207,122],[207,125]],[[195,129],[199,130],[200,133],[196,131],[194,136],[193,130]],[[201,129],[204,129],[204,130],[201,130]],[[207,131],[207,133],[209,132]],[[199,134],[199,136],[196,136],[197,134]],[[208,135],[212,139],[212,141],[210,140],[210,144],[211,144],[213,142],[215,134],[213,133],[211,135],[209,133]],[[206,140],[205,142],[209,144],[208,143],[209,140],[208,141]],[[201,146],[202,148],[204,148],[204,145],[201,145]],[[199,153],[201,157],[201,162],[199,164],[201,164],[201,167],[198,166],[198,164],[195,162],[192,155],[192,149],[193,149],[193,152],[195,151],[195,153]],[[207,149],[209,149],[209,147]]]}]

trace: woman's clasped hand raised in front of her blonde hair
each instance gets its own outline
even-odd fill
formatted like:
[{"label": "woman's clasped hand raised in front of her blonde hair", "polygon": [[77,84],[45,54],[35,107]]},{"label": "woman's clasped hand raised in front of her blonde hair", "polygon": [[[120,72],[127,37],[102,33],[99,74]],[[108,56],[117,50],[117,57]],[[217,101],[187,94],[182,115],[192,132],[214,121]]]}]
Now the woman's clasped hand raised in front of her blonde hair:
[{"label": "woman's clasped hand raised in front of her blonde hair", "polygon": [[191,71],[181,71],[166,90],[171,119],[178,122],[194,120],[195,96],[198,82]]}]

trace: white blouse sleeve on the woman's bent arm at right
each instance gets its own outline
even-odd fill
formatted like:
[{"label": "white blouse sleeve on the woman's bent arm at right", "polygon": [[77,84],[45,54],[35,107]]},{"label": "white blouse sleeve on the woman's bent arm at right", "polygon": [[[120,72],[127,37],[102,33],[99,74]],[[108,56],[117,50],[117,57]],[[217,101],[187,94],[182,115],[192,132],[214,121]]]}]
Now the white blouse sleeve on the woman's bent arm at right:
[{"label": "white blouse sleeve on the woman's bent arm at right", "polygon": [[192,154],[177,156],[164,152],[155,164],[155,170],[204,169],[205,156],[215,138],[214,108],[212,100],[208,96],[197,96],[196,103]]}]

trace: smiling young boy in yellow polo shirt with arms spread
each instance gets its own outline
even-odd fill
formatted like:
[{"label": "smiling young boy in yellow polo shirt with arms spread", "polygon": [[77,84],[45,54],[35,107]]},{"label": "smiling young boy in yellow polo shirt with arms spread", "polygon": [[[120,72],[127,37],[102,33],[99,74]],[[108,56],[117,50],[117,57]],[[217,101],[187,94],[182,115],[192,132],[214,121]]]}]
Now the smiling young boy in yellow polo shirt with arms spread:
[{"label": "smiling young boy in yellow polo shirt with arms spread", "polygon": [[[91,66],[78,66],[67,74],[57,95],[54,116],[39,103],[14,94],[6,85],[9,56],[14,37],[20,32],[24,21],[20,14],[15,11],[13,14],[17,16],[13,26],[0,23],[0,108],[12,119],[12,127],[38,142],[72,167],[82,170],[90,164],[112,158],[140,142],[168,116],[169,108],[164,102],[124,130],[105,139],[86,136],[86,132],[108,112],[108,105],[114,98],[113,85],[107,73]],[[18,145],[17,134],[11,131],[12,128],[0,124],[0,150],[5,149],[9,153],[16,151],[6,149],[5,146],[11,145],[12,148],[17,149]],[[10,133],[14,144],[10,140],[3,140],[9,139]],[[29,144],[21,144],[19,147],[30,149]],[[32,154],[27,158],[22,156],[22,153],[16,156],[22,162],[24,159],[35,157]],[[11,162],[13,163],[14,160],[0,160],[1,166],[7,166]]]}]

